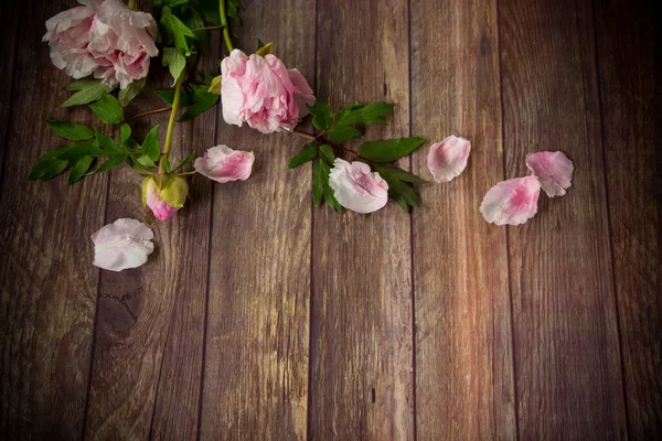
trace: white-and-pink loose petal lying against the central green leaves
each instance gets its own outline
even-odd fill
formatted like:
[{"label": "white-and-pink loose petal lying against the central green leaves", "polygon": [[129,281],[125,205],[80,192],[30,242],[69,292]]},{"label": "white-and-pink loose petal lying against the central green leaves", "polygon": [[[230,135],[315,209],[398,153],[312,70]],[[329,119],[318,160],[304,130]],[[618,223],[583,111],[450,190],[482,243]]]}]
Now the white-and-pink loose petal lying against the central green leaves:
[{"label": "white-and-pink loose petal lying against the central green leaves", "polygon": [[350,164],[337,159],[329,174],[329,185],[340,205],[356,213],[376,212],[388,202],[386,181],[361,161]]}]

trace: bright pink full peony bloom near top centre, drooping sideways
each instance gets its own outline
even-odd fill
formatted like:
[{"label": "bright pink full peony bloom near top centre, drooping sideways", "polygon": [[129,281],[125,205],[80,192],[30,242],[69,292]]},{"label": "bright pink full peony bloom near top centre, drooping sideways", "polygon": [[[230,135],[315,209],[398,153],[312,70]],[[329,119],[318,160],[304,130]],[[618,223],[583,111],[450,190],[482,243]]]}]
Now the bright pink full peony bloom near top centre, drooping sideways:
[{"label": "bright pink full peony bloom near top centre, drooping sideways", "polygon": [[221,63],[221,103],[225,122],[248,122],[263,133],[292,131],[314,104],[312,89],[297,69],[275,55],[246,56],[234,50]]}]

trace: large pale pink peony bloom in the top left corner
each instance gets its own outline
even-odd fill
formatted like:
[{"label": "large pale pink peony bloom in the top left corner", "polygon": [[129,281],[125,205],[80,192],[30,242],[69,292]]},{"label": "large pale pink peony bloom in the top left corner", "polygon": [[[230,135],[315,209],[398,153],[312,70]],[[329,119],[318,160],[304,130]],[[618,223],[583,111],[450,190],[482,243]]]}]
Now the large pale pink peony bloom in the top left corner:
[{"label": "large pale pink peony bloom in the top left corner", "polygon": [[122,89],[147,76],[150,56],[159,54],[153,18],[119,0],[78,2],[83,6],[46,21],[43,40],[51,46],[53,64],[73,78],[94,74]]}]

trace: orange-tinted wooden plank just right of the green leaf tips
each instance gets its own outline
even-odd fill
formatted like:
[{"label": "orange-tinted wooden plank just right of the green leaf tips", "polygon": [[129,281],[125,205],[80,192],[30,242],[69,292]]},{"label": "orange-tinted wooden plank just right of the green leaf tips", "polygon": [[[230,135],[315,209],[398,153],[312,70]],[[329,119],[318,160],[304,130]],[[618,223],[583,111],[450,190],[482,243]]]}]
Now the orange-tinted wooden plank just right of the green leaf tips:
[{"label": "orange-tinted wooden plank just right of the green leaf tips", "polygon": [[[412,132],[471,141],[465,173],[414,212],[416,421],[424,440],[516,435],[505,229],[478,207],[503,180],[495,1],[412,3]],[[435,90],[435,93],[430,93]],[[433,180],[424,148],[413,169]]]}]

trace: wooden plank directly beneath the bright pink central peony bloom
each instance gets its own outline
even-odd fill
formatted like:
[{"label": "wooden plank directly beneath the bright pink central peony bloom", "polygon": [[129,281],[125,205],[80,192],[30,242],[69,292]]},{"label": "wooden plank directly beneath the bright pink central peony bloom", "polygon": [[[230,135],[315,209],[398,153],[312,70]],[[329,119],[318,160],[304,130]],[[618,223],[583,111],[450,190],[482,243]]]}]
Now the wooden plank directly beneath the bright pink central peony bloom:
[{"label": "wooden plank directly beneath the bright pink central peony bloom", "polygon": [[[244,1],[236,46],[255,37],[312,84],[314,2]],[[253,151],[247,181],[214,185],[202,439],[306,437],[310,172],[302,141],[221,120],[216,143]]]}]

